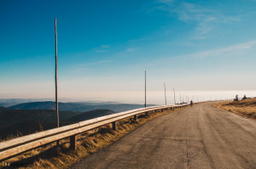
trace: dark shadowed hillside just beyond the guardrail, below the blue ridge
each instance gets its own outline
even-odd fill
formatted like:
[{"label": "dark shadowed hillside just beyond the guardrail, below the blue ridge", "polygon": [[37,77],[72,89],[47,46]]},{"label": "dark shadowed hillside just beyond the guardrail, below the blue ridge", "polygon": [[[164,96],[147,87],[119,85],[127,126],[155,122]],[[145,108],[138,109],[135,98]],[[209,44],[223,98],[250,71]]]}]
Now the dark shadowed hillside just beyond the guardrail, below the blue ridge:
[{"label": "dark shadowed hillside just beyond the guardrail, below the blue ridge", "polygon": [[[87,112],[60,111],[60,126],[85,121],[103,115],[111,110]],[[11,110],[0,107],[0,138],[13,138],[56,127],[55,110]]]}]

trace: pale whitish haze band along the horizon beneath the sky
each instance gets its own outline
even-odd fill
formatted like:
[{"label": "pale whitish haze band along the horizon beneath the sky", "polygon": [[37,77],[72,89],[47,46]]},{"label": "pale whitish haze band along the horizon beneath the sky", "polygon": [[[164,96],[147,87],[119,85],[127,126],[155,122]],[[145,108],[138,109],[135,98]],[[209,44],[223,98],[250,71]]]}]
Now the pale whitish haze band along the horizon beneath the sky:
[{"label": "pale whitish haze band along the horizon beneath the sky", "polygon": [[[73,98],[65,98],[60,97],[59,102],[91,102],[91,103],[101,103],[101,102],[113,102],[116,104],[144,104],[144,92],[126,92],[121,93],[116,92],[115,95],[110,95],[102,98],[102,93],[98,93],[97,97],[73,97]],[[256,91],[188,91],[176,90],[176,103],[180,103],[180,99],[182,102],[186,102],[189,100],[198,101],[207,101],[207,100],[220,100],[220,99],[235,99],[236,94],[238,94],[239,98],[242,98],[244,95],[247,98],[256,97]],[[123,97],[120,97],[123,95]],[[139,97],[137,97],[139,96]],[[181,97],[180,97],[181,96]],[[122,99],[119,99],[122,98]],[[55,98],[14,98],[14,97],[6,97],[0,99],[33,99],[38,101],[55,101]],[[167,104],[174,104],[174,94],[172,90],[166,90],[166,100]],[[147,104],[165,104],[165,95],[163,91],[148,91],[147,92]]]}]

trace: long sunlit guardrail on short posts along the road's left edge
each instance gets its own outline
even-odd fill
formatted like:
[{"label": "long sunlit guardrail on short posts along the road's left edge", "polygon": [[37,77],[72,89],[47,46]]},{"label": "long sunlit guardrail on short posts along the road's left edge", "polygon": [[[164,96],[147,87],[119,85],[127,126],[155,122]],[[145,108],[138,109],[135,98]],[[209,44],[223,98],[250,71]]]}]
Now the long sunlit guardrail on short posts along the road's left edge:
[{"label": "long sunlit guardrail on short posts along the road's left edge", "polygon": [[97,117],[95,119],[90,119],[87,121],[80,121],[78,123],[67,125],[64,127],[50,129],[44,132],[37,132],[20,138],[14,138],[9,141],[4,141],[0,143],[0,161],[5,161],[16,155],[20,155],[31,149],[36,149],[45,144],[54,143],[63,138],[70,138],[70,148],[76,149],[77,147],[77,136],[83,132],[89,131],[90,129],[96,127],[102,127],[109,123],[112,123],[113,130],[116,129],[116,121],[125,119],[130,116],[134,116],[137,120],[137,115],[145,113],[148,115],[149,111],[167,110],[175,109],[186,106],[188,104],[178,104],[178,105],[165,105],[165,106],[152,106],[147,108],[141,108],[136,110],[128,110],[113,115],[105,115]]}]

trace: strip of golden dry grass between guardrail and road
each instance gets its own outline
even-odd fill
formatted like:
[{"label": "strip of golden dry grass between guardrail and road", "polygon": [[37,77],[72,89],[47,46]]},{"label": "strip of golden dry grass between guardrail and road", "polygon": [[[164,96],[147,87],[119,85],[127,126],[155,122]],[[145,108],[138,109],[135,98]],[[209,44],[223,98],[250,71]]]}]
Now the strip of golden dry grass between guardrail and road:
[{"label": "strip of golden dry grass between guardrail and road", "polygon": [[8,162],[11,166],[18,166],[19,168],[68,168],[68,166],[80,161],[85,156],[96,152],[97,149],[102,149],[109,144],[113,144],[114,141],[122,138],[125,134],[142,126],[146,122],[173,111],[175,110],[165,110],[162,113],[151,112],[149,116],[139,115],[137,121],[134,121],[131,117],[126,118],[117,122],[116,131],[113,131],[109,124],[84,132],[79,135],[78,148],[75,151],[68,149],[69,140],[63,139],[60,141],[60,149],[56,148],[55,143],[48,144],[38,149],[32,149],[5,162]]}]

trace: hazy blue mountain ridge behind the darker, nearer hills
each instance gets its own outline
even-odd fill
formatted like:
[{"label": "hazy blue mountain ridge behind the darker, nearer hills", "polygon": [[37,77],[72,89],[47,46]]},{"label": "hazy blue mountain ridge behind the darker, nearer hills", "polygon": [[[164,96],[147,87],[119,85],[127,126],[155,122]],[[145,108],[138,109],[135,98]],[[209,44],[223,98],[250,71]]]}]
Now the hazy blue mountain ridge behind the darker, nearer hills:
[{"label": "hazy blue mountain ridge behind the darker, nearer hills", "polygon": [[[59,110],[65,111],[90,111],[98,109],[113,110],[114,112],[121,112],[125,110],[133,110],[143,108],[143,104],[96,104],[96,103],[59,103]],[[153,106],[153,104],[148,105]],[[16,104],[10,106],[9,109],[15,110],[55,110],[55,102],[30,102],[23,104]]]}]

